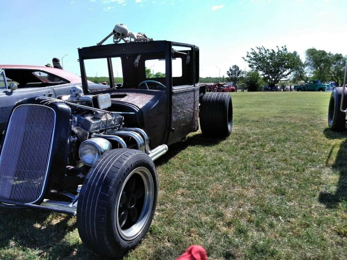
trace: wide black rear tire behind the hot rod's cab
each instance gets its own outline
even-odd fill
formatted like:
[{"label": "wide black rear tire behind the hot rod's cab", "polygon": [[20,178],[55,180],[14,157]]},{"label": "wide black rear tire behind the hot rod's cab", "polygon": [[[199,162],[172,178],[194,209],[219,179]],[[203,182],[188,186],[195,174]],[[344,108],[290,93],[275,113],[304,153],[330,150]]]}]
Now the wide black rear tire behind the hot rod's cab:
[{"label": "wide black rear tire behind the hot rod's cab", "polygon": [[229,93],[207,93],[200,102],[200,127],[204,136],[227,137],[232,129],[232,102]]}]

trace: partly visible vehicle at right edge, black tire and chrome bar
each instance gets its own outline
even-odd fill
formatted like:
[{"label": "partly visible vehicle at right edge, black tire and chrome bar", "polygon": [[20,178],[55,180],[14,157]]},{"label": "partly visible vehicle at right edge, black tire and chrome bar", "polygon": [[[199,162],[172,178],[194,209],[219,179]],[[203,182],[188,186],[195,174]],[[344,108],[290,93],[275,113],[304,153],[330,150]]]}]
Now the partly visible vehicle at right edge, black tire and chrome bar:
[{"label": "partly visible vehicle at right edge, black tire and chrome bar", "polygon": [[346,94],[347,61],[342,87],[332,90],[328,108],[328,126],[333,131],[345,131],[347,128],[347,94]]}]

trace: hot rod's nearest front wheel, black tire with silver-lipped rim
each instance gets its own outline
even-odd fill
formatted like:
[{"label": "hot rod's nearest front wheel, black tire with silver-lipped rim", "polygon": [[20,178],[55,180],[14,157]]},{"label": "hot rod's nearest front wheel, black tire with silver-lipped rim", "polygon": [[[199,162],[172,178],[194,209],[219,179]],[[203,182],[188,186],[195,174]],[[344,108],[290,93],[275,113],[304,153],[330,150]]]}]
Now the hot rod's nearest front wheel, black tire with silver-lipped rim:
[{"label": "hot rod's nearest front wheel, black tire with silver-lipped rim", "polygon": [[102,257],[121,258],[151,225],[158,177],[151,158],[133,149],[103,154],[88,172],[78,198],[82,242]]}]

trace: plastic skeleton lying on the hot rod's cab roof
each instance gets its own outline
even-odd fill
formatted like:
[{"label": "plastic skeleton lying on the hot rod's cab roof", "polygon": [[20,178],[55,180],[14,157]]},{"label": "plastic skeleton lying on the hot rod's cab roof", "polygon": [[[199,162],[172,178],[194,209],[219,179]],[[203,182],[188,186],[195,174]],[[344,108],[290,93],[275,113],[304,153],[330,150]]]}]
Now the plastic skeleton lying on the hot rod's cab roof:
[{"label": "plastic skeleton lying on the hot rod's cab roof", "polygon": [[113,35],[113,43],[119,43],[121,40],[124,42],[150,42],[153,41],[152,38],[148,38],[144,33],[133,33],[128,30],[124,24],[116,24],[113,31],[107,35],[103,40],[96,45],[103,44],[109,37]]}]

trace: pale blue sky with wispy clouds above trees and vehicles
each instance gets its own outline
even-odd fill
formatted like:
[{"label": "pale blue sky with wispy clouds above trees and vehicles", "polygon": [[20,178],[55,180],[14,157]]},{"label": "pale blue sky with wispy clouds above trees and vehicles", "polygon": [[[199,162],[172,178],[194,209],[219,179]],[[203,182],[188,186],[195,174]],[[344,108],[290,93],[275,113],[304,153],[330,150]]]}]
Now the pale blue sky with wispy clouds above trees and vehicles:
[{"label": "pale blue sky with wispy clouds above trees and vehicles", "polygon": [[[77,75],[76,49],[95,45],[117,23],[154,40],[199,46],[202,77],[218,77],[216,66],[221,76],[234,64],[248,70],[242,57],[261,45],[287,45],[301,56],[310,47],[347,54],[347,0],[2,0],[0,6],[0,64],[43,66],[68,54],[64,69]],[[102,68],[96,72],[106,76]]]}]

